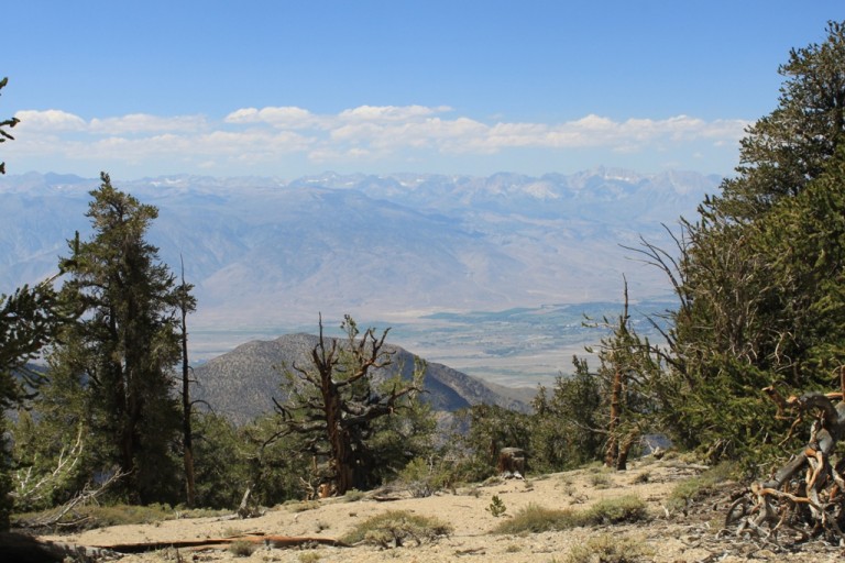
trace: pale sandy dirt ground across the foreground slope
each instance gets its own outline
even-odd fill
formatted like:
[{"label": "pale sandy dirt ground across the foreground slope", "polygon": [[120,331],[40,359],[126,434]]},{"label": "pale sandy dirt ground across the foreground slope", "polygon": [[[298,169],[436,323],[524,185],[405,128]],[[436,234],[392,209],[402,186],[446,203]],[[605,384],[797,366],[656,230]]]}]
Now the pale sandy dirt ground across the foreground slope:
[{"label": "pale sandy dirt ground across the foreground slope", "polygon": [[[410,510],[417,515],[448,521],[453,532],[434,543],[378,549],[372,545],[353,548],[310,547],[271,549],[261,547],[250,556],[235,556],[228,548],[163,549],[140,555],[125,555],[121,563],[197,562],[508,562],[562,563],[573,545],[601,534],[628,537],[646,543],[654,552],[647,561],[737,562],[790,561],[842,562],[845,551],[820,542],[786,553],[773,545],[740,540],[733,536],[718,538],[724,520],[729,488],[688,512],[667,515],[663,503],[679,482],[690,478],[698,470],[678,462],[635,462],[627,472],[604,474],[610,483],[596,486],[597,470],[579,470],[526,481],[508,479],[489,486],[464,487],[457,494],[443,493],[427,498],[400,498],[392,501],[361,499],[325,499],[312,509],[304,505],[286,505],[267,510],[263,516],[245,520],[220,517],[168,520],[146,526],[116,526],[73,536],[50,536],[44,539],[80,545],[114,545],[140,542],[162,542],[188,539],[229,537],[237,533],[261,533],[289,537],[341,538],[358,522],[387,510]],[[648,473],[640,483],[638,475]],[[486,510],[493,495],[506,507],[506,516],[494,517]],[[575,528],[561,532],[500,536],[491,533],[503,518],[534,503],[547,508],[585,508],[603,498],[637,495],[652,515],[648,522],[596,528]],[[298,508],[297,508],[298,506]],[[297,511],[300,510],[300,511]],[[178,553],[177,553],[178,551]]]}]

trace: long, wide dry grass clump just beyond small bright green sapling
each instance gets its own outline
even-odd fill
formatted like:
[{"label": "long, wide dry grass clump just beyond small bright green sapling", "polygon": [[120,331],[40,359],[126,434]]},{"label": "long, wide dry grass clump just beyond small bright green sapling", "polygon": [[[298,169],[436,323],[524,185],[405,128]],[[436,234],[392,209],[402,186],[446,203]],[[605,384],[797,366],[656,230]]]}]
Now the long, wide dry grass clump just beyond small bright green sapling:
[{"label": "long, wide dry grass clump just beyond small bright green sapling", "polygon": [[627,495],[601,500],[583,510],[552,509],[529,504],[493,529],[493,533],[540,533],[583,526],[639,522],[648,519],[645,501]]}]

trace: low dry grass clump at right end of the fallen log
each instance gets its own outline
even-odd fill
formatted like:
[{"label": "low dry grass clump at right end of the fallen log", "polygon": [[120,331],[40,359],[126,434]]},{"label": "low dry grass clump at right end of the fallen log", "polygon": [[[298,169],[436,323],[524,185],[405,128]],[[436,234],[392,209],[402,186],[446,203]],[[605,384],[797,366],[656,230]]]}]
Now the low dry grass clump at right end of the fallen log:
[{"label": "low dry grass clump at right end of the fallen log", "polygon": [[344,543],[370,543],[382,548],[398,548],[407,540],[417,545],[449,536],[452,527],[438,520],[410,512],[409,510],[388,510],[365,520],[344,536]]}]

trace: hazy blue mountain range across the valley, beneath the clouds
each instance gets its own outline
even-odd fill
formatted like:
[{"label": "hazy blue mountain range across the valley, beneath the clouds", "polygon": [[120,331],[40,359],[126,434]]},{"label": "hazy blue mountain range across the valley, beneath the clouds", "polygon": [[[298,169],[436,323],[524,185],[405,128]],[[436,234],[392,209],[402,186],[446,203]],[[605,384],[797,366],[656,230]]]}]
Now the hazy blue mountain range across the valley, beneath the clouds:
[{"label": "hazy blue mountain range across the valley, beneath the clouds", "polygon": [[[314,332],[320,312],[327,327],[351,313],[362,325],[422,331],[443,312],[618,301],[623,274],[634,301],[665,298],[665,276],[624,246],[643,236],[672,249],[662,225],[692,216],[720,183],[611,168],[112,180],[158,208],[150,240],[164,262],[178,274],[184,258],[199,302],[189,327],[195,358],[254,338]],[[85,212],[97,185],[0,176],[0,292],[54,273],[74,232],[90,235]],[[394,342],[431,357],[417,335]]]}]

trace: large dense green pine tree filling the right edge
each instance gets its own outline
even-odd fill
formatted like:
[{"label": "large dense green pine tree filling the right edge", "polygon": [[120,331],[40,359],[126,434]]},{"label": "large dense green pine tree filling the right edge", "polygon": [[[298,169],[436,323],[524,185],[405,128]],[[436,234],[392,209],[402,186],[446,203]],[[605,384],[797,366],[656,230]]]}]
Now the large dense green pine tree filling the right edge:
[{"label": "large dense green pine tree filling the right edge", "polygon": [[845,363],[845,26],[792,49],[779,104],[740,166],[683,222],[681,258],[648,246],[680,307],[667,334],[671,422],[713,457],[758,455],[784,430],[761,388],[836,386]]}]

